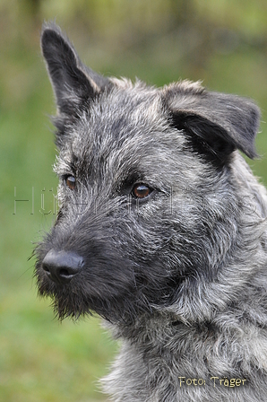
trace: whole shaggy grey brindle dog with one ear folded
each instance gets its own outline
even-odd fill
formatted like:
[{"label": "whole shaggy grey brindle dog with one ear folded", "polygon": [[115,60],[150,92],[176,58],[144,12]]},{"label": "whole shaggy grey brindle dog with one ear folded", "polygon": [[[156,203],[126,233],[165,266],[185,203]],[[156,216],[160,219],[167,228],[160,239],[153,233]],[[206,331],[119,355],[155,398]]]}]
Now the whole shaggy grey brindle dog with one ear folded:
[{"label": "whole shaggy grey brindle dog with one ear folded", "polygon": [[116,402],[266,402],[267,195],[252,100],[155,88],[84,66],[54,23],[59,213],[35,249],[58,319],[96,312],[122,340]]}]

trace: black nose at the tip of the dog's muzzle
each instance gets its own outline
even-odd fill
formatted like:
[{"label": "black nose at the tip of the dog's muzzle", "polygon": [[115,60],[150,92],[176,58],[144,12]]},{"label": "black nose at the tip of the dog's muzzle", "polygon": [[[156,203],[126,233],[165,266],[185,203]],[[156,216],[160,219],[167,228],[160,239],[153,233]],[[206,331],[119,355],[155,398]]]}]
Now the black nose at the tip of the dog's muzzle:
[{"label": "black nose at the tip of the dog's muzzle", "polygon": [[71,251],[50,249],[43,259],[43,270],[56,284],[67,284],[81,272],[83,258]]}]

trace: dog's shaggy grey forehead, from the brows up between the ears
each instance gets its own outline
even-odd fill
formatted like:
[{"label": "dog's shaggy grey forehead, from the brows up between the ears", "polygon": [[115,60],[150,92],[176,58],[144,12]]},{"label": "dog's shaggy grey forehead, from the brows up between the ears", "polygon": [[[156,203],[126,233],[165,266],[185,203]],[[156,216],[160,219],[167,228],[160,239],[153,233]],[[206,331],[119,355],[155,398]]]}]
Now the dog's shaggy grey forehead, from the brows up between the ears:
[{"label": "dog's shaggy grey forehead, from the brows up between the ears", "polygon": [[159,169],[162,174],[169,166],[175,169],[184,144],[185,135],[169,124],[159,90],[127,85],[103,93],[82,111],[70,127],[56,171],[68,165],[98,178],[134,173],[158,178]]}]

